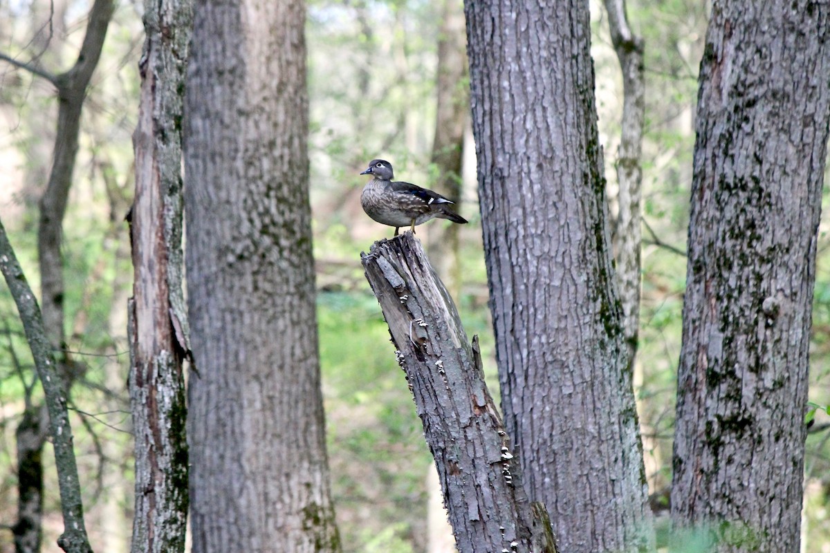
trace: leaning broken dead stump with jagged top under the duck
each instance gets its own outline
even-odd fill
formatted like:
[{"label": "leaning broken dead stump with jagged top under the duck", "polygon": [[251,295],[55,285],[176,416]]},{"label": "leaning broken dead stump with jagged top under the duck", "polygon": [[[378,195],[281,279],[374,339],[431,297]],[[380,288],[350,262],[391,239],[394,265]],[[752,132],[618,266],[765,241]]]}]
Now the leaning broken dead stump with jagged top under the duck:
[{"label": "leaning broken dead stump with jagged top under the duck", "polygon": [[410,232],[361,254],[413,392],[461,553],[554,553],[541,504],[521,485],[518,453],[487,390],[477,337]]}]

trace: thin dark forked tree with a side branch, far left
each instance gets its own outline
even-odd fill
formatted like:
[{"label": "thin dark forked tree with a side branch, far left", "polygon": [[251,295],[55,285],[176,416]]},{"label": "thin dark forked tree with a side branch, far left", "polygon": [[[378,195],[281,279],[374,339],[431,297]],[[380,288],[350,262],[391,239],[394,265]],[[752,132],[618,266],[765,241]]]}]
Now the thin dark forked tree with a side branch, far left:
[{"label": "thin dark forked tree with a side branch, far left", "polygon": [[[75,365],[66,354],[63,311],[63,256],[61,236],[66,202],[81,133],[81,110],[104,46],[107,27],[115,10],[113,0],[95,0],[75,65],[54,75],[37,63],[27,64],[9,56],[0,59],[51,82],[57,90],[58,118],[49,181],[40,200],[37,228],[37,255],[41,271],[41,306],[46,336],[56,351],[58,374],[69,393]],[[41,404],[28,406],[17,428],[17,522],[14,526],[17,553],[37,553],[41,549],[43,517],[43,444],[47,424]]]}]

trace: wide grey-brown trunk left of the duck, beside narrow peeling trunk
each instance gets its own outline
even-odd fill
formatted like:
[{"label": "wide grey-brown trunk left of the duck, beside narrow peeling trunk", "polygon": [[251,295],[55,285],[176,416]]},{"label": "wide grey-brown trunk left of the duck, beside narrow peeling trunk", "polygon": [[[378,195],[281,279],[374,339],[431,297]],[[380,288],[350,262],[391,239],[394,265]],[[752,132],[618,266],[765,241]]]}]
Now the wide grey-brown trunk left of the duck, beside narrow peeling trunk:
[{"label": "wide grey-brown trunk left of the duck, beside narrow peeling trunk", "polygon": [[201,0],[185,131],[193,551],[339,551],[308,198],[304,2]]}]

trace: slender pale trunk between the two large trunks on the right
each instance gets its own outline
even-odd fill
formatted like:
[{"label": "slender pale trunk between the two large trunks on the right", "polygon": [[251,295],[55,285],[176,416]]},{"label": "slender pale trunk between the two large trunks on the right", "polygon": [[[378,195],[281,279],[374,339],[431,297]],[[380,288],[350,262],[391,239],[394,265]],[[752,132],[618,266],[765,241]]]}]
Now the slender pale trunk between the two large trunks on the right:
[{"label": "slender pale trunk between the two large trunks on the right", "polygon": [[620,70],[623,72],[623,120],[617,156],[619,211],[615,226],[614,250],[620,303],[623,306],[623,334],[628,364],[637,354],[640,328],[640,244],[642,230],[642,127],[646,112],[646,80],[643,69],[642,38],[628,27],[625,0],[604,0],[608,28]]}]

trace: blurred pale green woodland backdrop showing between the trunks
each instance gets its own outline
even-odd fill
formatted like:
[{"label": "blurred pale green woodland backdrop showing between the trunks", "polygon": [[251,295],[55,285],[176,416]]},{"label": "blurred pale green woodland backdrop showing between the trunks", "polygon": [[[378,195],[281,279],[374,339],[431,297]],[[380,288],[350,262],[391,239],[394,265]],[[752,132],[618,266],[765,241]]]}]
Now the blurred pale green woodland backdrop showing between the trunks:
[{"label": "blurred pale green woodland backdrop showing between the trunks", "polygon": [[[460,4],[460,2],[459,2]],[[0,2],[0,51],[50,68],[76,57],[90,2]],[[686,275],[691,153],[697,71],[708,2],[628,2],[632,31],[646,45],[646,120],[642,144],[642,299],[637,349],[638,409],[652,507],[666,507],[671,478],[676,369]],[[432,164],[437,117],[442,2],[311,0],[309,56],[311,205],[318,286],[323,392],[333,495],[344,551],[427,551],[427,486],[432,459],[369,291],[359,252],[388,236],[364,216],[357,175],[376,157],[403,180],[438,187]],[[132,145],[138,111],[137,64],[142,2],[122,2],[110,24],[99,69],[87,90],[78,160],[63,232],[67,349],[85,364],[73,394],[87,528],[95,551],[126,551],[132,518],[133,460],[125,393],[125,305],[131,286],[123,218],[132,194]],[[622,78],[601,2],[591,5],[600,139],[609,198],[616,196]],[[466,86],[466,83],[464,84]],[[37,286],[37,198],[51,167],[53,87],[0,62],[0,212]],[[467,332],[481,335],[487,378],[496,388],[493,338],[475,192],[475,159],[466,126],[462,144],[461,267],[457,302]],[[823,192],[827,205],[828,192]],[[429,239],[447,221],[418,229]],[[830,403],[830,255],[828,217],[819,227],[813,300],[810,399]],[[429,250],[428,250],[429,252]],[[7,290],[0,288],[0,550],[11,551],[16,520],[14,431],[32,387],[32,360]],[[808,434],[805,551],[830,542],[830,445],[827,415]],[[46,447],[51,447],[46,445]],[[44,456],[43,551],[61,530],[51,454]],[[439,517],[440,518],[440,517]]]}]

